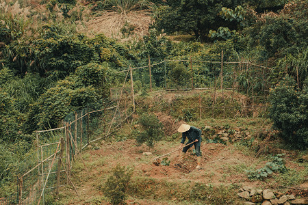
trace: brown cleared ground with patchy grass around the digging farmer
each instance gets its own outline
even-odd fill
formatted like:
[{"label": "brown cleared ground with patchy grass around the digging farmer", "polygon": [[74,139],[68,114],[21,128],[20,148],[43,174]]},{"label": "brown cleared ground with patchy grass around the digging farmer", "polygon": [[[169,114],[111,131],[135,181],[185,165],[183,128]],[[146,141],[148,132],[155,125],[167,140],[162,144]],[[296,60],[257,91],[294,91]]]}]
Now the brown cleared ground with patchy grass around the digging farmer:
[{"label": "brown cleared ground with patchy grass around the digging farmer", "polygon": [[[228,121],[230,126],[238,126],[240,123],[251,131],[257,129],[257,124],[265,122],[262,119],[233,121]],[[225,120],[208,119],[198,122],[201,123],[215,126],[224,124]],[[146,146],[137,146],[134,139],[106,139],[97,143],[92,149],[83,152],[89,174],[81,161],[76,161],[73,165],[73,182],[81,197],[77,197],[72,187],[68,186],[62,189],[57,203],[108,204],[103,187],[116,165],[133,169],[127,189],[128,204],[243,204],[236,194],[242,186],[286,192],[286,187],[295,187],[307,180],[307,161],[300,161],[307,153],[282,149],[281,143],[276,140],[268,143],[285,154],[283,158],[288,171],[272,174],[264,180],[248,179],[246,170],[264,167],[266,162],[270,161],[270,151],[267,155],[256,157],[255,145],[248,141],[227,145],[203,142],[203,169],[200,170],[194,169],[196,157],[191,152],[186,154],[183,167],[176,165],[179,152],[168,156],[168,166],[157,166],[153,163],[155,156],[177,149],[179,141],[180,136],[172,141],[160,141],[151,150]],[[149,151],[153,154],[142,154]],[[277,150],[274,154],[277,154]]]}]

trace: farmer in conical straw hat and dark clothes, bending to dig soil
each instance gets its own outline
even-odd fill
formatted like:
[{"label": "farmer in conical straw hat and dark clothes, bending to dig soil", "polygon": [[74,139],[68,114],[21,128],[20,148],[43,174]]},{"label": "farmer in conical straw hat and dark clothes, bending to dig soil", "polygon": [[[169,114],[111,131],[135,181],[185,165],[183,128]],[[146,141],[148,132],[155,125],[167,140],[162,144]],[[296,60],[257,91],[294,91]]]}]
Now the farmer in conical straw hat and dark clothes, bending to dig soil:
[{"label": "farmer in conical straw hat and dark clothes, bending to dig soil", "polygon": [[[192,145],[194,145],[194,149],[196,150],[196,156],[197,156],[197,166],[196,169],[200,169],[201,168],[201,153],[200,153],[200,147],[201,147],[201,129],[196,128],[194,126],[190,126],[188,124],[181,124],[181,126],[179,126],[179,128],[177,129],[177,131],[179,131],[179,133],[182,133],[182,140],[181,140],[181,145],[179,146],[179,149],[181,149],[183,147],[183,144],[185,142],[186,137],[188,138],[188,143],[192,143],[190,144],[190,146],[186,146],[183,148],[181,154],[180,154],[180,158],[179,161],[181,162],[184,159],[185,153],[187,152],[187,150],[189,148],[192,147]],[[188,144],[186,143],[186,144]]]}]

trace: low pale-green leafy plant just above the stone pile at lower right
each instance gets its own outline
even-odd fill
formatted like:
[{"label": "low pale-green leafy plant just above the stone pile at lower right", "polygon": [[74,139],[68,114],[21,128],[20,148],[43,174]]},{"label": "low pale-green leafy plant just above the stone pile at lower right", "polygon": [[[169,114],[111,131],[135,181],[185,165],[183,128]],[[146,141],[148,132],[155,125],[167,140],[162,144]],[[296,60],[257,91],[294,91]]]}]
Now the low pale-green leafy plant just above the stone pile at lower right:
[{"label": "low pale-green leafy plant just above the stone pile at lower right", "polygon": [[275,156],[272,156],[272,161],[266,163],[265,167],[262,167],[260,169],[257,169],[255,171],[253,170],[246,170],[246,173],[248,175],[248,178],[250,179],[264,179],[273,172],[287,172],[287,168],[285,167],[285,160],[281,158],[280,156],[283,156],[284,154],[277,154]]}]

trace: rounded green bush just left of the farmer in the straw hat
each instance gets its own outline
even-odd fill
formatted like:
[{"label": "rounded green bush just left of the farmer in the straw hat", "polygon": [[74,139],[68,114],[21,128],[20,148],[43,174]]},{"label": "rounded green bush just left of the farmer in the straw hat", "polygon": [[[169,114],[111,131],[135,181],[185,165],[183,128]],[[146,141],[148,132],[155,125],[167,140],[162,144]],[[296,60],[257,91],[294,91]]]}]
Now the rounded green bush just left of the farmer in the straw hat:
[{"label": "rounded green bush just left of the farmer in the straw hat", "polygon": [[155,141],[161,140],[164,136],[162,122],[159,122],[154,114],[147,113],[144,113],[138,122],[144,130],[134,133],[138,144],[146,143],[147,146],[153,148]]}]

